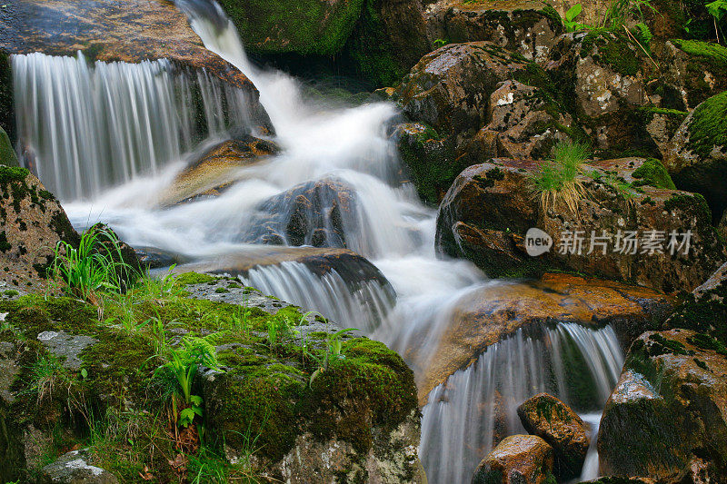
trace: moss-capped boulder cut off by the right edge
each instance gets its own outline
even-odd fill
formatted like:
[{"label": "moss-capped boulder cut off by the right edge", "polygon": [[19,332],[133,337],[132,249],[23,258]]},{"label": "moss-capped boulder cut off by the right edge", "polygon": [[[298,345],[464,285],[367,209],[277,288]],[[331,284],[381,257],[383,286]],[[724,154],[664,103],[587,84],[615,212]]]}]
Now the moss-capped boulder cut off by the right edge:
[{"label": "moss-capped boulder cut off by the right edge", "polygon": [[704,195],[719,222],[727,209],[727,93],[704,101],[684,120],[664,165],[677,187]]}]

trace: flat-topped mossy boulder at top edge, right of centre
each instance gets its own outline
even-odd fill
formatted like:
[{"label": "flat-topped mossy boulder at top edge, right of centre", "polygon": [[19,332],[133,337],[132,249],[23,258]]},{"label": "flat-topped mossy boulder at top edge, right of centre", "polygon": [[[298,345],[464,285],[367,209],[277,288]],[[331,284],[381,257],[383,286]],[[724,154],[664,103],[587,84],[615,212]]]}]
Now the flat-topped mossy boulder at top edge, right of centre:
[{"label": "flat-topped mossy boulder at top edge, right of centre", "polygon": [[538,62],[547,58],[555,37],[564,32],[553,7],[535,0],[439,0],[427,5],[424,19],[432,43],[485,40]]}]

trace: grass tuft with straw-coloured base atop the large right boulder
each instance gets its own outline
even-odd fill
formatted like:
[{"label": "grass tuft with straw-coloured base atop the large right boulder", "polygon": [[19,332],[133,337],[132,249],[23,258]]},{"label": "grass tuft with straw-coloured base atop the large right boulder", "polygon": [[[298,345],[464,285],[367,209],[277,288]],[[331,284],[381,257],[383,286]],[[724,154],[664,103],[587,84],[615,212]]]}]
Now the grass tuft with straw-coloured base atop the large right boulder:
[{"label": "grass tuft with straw-coloured base atop the large right boulder", "polygon": [[531,181],[540,197],[544,211],[555,210],[564,204],[573,213],[585,196],[585,187],[578,180],[583,173],[583,163],[589,156],[588,147],[582,143],[561,142],[553,150],[553,161],[543,163]]}]

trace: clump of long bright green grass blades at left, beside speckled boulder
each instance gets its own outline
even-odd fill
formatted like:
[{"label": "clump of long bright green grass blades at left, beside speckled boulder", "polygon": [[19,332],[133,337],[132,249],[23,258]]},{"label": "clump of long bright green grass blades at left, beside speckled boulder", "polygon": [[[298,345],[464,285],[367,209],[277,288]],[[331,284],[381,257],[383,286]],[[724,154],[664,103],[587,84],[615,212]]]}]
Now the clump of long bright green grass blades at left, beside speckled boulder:
[{"label": "clump of long bright green grass blades at left, beside speckled boulder", "polygon": [[77,248],[65,241],[58,242],[51,275],[55,284],[69,296],[95,301],[97,291],[122,291],[123,272],[134,271],[123,259],[114,232],[87,231]]}]

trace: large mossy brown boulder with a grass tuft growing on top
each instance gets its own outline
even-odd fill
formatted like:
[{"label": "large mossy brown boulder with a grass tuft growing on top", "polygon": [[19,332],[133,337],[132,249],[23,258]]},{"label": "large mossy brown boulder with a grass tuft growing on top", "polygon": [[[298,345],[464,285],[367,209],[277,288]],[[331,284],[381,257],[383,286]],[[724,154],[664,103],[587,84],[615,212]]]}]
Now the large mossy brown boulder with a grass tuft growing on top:
[{"label": "large mossy brown boulder with a grass tuft growing on top", "polygon": [[[493,159],[463,171],[440,206],[437,250],[470,259],[492,277],[560,267],[666,292],[692,290],[723,262],[706,202],[667,188],[661,163],[627,158],[583,165],[587,176],[578,180],[585,196],[577,212],[543,207],[532,181],[542,166]],[[531,228],[551,238],[547,252],[528,255],[524,237]]]}]

